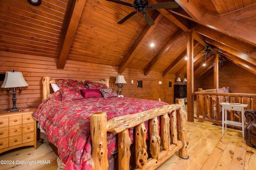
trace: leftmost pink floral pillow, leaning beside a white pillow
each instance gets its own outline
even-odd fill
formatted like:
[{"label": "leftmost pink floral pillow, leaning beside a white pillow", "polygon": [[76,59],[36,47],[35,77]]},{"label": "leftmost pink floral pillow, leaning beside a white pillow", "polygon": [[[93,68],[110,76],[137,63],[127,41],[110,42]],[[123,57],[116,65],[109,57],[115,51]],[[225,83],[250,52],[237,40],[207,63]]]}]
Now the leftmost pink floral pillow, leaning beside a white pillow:
[{"label": "leftmost pink floral pillow, leaning beside a white pillow", "polygon": [[81,89],[86,89],[84,83],[80,80],[56,79],[60,92],[62,94],[62,102],[84,99],[80,93]]}]

